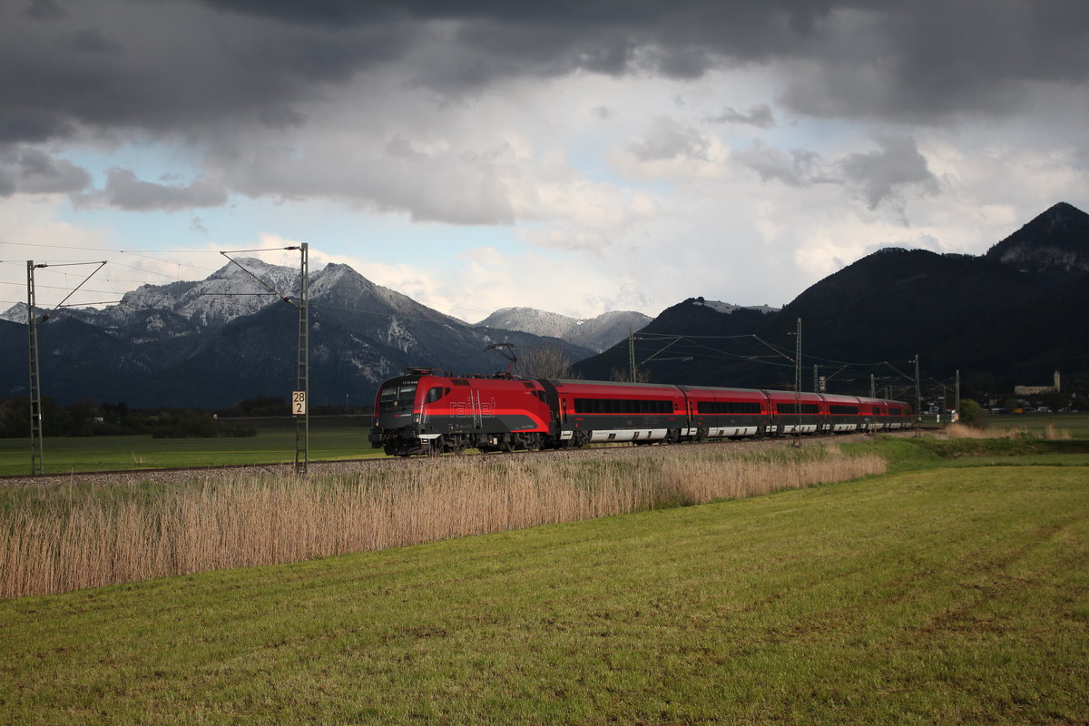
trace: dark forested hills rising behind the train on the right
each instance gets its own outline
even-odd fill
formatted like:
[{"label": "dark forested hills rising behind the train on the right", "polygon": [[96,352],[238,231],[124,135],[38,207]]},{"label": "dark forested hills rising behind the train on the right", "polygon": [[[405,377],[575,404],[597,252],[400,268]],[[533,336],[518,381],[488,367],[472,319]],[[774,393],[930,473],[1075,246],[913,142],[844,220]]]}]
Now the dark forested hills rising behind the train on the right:
[{"label": "dark forested hills rising behind the train on the right", "polygon": [[[1089,214],[1055,205],[980,257],[882,249],[781,311],[741,311],[719,313],[697,299],[673,306],[640,331],[637,362],[651,381],[786,387],[800,318],[806,390],[813,365],[890,361],[906,370],[915,354],[923,377],[960,370],[980,393],[1047,383],[1055,370],[1087,379]],[[752,337],[724,337],[746,333]],[[587,378],[627,368],[626,342],[579,365]],[[854,389],[866,391],[868,376]]]}]

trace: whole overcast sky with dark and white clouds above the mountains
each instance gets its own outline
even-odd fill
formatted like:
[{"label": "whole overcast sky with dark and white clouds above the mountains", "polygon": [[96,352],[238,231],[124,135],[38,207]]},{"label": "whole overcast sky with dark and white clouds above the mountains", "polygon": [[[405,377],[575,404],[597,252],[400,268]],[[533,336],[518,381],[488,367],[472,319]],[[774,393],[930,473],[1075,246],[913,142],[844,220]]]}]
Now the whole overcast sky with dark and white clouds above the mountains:
[{"label": "whole overcast sky with dark and white clouds above the mountains", "polygon": [[468,321],[781,306],[1089,210],[1087,122],[1085,0],[3,0],[0,306],[298,242]]}]

